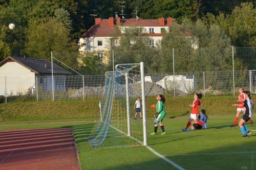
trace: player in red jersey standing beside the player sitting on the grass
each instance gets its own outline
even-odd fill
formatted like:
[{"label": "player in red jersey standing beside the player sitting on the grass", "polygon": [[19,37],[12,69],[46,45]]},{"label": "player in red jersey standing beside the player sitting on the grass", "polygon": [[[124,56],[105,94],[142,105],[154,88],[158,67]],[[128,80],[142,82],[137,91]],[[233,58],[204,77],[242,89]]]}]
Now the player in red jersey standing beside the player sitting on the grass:
[{"label": "player in red jersey standing beside the player sitting on the grass", "polygon": [[191,110],[186,128],[182,129],[183,131],[187,131],[188,127],[191,124],[192,119],[194,119],[195,124],[197,123],[198,106],[202,105],[202,103],[199,101],[199,99],[201,99],[201,98],[202,98],[201,93],[200,94],[195,93],[194,94],[194,99],[195,100],[194,100],[193,104],[190,104],[190,103],[188,104],[190,107],[192,107],[192,110]]}]

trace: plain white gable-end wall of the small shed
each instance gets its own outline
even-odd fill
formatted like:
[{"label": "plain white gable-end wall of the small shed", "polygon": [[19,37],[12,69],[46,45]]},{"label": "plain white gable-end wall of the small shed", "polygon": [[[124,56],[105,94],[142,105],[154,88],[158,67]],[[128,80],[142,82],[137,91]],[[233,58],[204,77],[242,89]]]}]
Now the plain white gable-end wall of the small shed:
[{"label": "plain white gable-end wall of the small shed", "polygon": [[26,93],[34,83],[34,72],[16,62],[7,62],[0,67],[0,95],[5,95],[6,90],[7,95]]}]

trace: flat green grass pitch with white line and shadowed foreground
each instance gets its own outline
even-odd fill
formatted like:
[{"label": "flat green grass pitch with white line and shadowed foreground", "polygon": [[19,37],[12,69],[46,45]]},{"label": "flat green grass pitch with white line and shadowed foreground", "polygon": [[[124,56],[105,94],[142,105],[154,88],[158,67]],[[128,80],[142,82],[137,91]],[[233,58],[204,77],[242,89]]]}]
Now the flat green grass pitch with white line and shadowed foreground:
[{"label": "flat green grass pitch with white line and shadowed foreground", "polygon": [[[256,127],[242,138],[234,116],[209,117],[208,129],[183,132],[188,117],[165,118],[166,135],[150,135],[153,119],[147,119],[148,147],[184,169],[254,169]],[[252,117],[253,119],[253,117]],[[138,120],[141,121],[141,120]],[[87,137],[94,122],[0,126],[0,129],[72,127],[82,169],[178,169],[144,146],[92,149]]]}]

